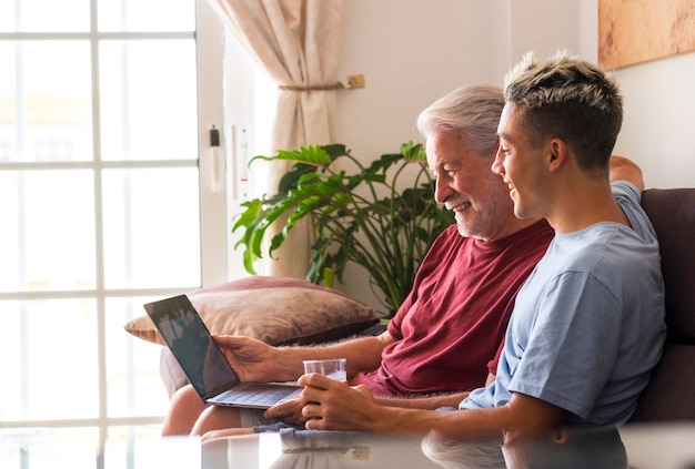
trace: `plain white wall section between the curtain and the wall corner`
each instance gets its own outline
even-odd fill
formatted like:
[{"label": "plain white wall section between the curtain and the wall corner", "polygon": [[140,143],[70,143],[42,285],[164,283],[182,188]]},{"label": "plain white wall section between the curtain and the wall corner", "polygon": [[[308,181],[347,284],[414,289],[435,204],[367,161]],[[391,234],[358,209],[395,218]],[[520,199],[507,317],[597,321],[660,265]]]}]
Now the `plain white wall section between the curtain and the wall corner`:
[{"label": "plain white wall section between the curtain and the wall corner", "polygon": [[491,11],[477,0],[346,0],[341,75],[363,90],[339,93],[338,141],[371,161],[419,141],[417,113],[492,74]]}]

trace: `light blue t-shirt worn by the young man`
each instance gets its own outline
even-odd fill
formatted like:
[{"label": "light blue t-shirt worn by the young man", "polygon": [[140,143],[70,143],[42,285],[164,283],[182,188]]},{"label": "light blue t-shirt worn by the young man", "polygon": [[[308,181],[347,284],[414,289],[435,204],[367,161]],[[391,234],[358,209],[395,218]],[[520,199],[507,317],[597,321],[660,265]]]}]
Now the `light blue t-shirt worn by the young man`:
[{"label": "light blue t-shirt worn by the young man", "polygon": [[518,292],[494,384],[461,409],[522,392],[567,410],[568,425],[629,419],[662,355],[664,283],[639,191],[625,181],[612,187],[633,230],[603,222],[555,235]]}]

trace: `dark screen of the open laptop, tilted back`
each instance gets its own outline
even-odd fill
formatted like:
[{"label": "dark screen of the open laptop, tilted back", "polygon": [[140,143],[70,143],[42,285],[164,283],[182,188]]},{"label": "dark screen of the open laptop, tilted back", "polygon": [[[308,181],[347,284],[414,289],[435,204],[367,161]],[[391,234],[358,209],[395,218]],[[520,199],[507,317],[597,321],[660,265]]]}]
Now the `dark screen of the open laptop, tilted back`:
[{"label": "dark screen of the open laptop, tilted back", "polygon": [[185,295],[149,303],[144,308],[201,399],[239,385],[239,378]]}]

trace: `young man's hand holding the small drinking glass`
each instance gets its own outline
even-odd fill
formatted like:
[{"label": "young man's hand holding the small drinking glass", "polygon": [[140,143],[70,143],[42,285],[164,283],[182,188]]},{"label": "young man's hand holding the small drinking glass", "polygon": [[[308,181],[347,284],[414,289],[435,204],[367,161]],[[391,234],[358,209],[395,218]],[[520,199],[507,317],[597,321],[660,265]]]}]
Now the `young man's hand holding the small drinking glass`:
[{"label": "young man's hand holding the small drinking glass", "polygon": [[308,430],[371,431],[371,410],[379,406],[366,386],[350,387],[315,373],[303,375],[299,385],[304,386],[300,399]]}]

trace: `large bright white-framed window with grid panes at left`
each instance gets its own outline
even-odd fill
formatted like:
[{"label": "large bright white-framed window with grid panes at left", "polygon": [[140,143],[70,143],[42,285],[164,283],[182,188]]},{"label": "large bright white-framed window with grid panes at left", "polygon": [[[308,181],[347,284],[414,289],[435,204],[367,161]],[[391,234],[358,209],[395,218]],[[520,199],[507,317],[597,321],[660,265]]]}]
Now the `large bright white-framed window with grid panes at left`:
[{"label": "large bright white-framed window with grid panes at left", "polygon": [[123,325],[241,275],[210,186],[222,33],[207,1],[1,2],[0,467],[134,467],[159,436],[160,347]]}]

